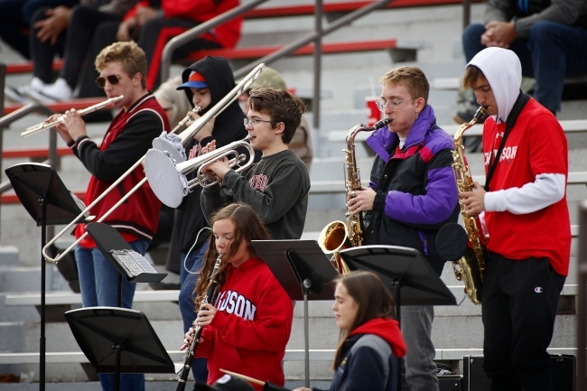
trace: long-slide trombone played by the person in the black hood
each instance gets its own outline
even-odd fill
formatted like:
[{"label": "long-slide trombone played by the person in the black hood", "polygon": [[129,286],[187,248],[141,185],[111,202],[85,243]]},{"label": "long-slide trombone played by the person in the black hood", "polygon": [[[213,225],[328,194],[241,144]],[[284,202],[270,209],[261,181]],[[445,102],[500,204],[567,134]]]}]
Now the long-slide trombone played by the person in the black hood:
[{"label": "long-slide trombone played by the person in the black hood", "polygon": [[[247,90],[247,88],[253,83],[253,81],[255,81],[255,79],[258,78],[258,76],[261,74],[261,71],[263,70],[264,67],[265,67],[265,64],[263,64],[263,63],[257,65],[254,70],[250,71],[250,73],[245,77],[245,79],[242,79],[240,81],[240,83],[238,83],[238,85],[235,88],[232,88],[232,90],[230,92],[228,92],[227,96],[220,99],[219,103],[214,105],[214,107],[211,107],[210,110],[206,114],[204,114],[203,116],[200,116],[200,118],[198,118],[193,124],[191,124],[191,126],[188,126],[180,135],[178,135],[180,137],[180,139],[182,140],[182,144],[186,145],[194,135],[196,135],[198,132],[200,132],[200,129],[204,125],[206,125],[208,123],[208,121],[210,121],[210,119],[212,119],[212,117],[219,115],[226,107],[228,107],[229,104],[231,104],[235,99],[237,99],[239,95],[241,95],[243,92],[245,92]],[[194,107],[194,109],[195,108],[196,107]],[[182,121],[187,122],[189,119],[190,119],[189,116],[186,116],[186,118],[183,118]],[[182,126],[185,124],[185,122],[182,124]],[[181,126],[175,126],[173,131],[176,131],[180,127]],[[254,154],[252,154],[252,155],[254,158]],[[145,156],[146,156],[146,154],[145,154]],[[126,172],[123,173],[122,176],[120,178],[118,178],[115,182],[113,182],[110,185],[110,187],[107,188],[106,191],[104,191],[102,194],[100,194],[96,200],[94,200],[92,203],[89,204],[89,206],[86,207],[86,209],[83,209],[79,213],[77,218],[73,219],[70,222],[70,224],[68,224],[65,228],[61,229],[61,231],[55,237],[53,237],[45,245],[45,247],[42,247],[42,256],[44,256],[44,258],[48,262],[51,262],[54,264],[58,263],[63,256],[68,254],[74,247],[76,247],[76,245],[81,240],[83,240],[85,237],[88,236],[88,232],[87,231],[84,232],[83,235],[81,235],[73,244],[70,245],[70,247],[67,247],[61,254],[58,254],[54,258],[49,256],[47,253],[49,250],[49,247],[51,247],[51,245],[53,245],[66,232],[70,231],[70,228],[73,227],[74,225],[76,225],[77,222],[79,221],[79,219],[82,219],[86,215],[86,213],[89,212],[89,209],[92,209],[94,206],[96,206],[96,204],[100,200],[102,200],[104,197],[106,197],[110,191],[113,191],[114,189],[116,189],[116,186],[120,182],[122,182],[131,172],[135,171],[135,169],[144,162],[145,156],[143,156],[141,159],[138,160],[138,162],[133,164],[131,168],[126,170]],[[166,155],[165,155],[165,157],[167,158]],[[169,160],[169,158],[167,158],[167,159]],[[171,162],[171,160],[170,160],[170,162]],[[104,219],[106,219],[113,211],[115,211],[120,205],[122,205],[124,202],[126,202],[126,200],[128,200],[128,198],[131,195],[133,195],[135,193],[135,191],[137,191],[144,184],[144,182],[147,182],[146,176],[143,178],[143,180],[141,182],[138,182],[133,189],[128,191],[123,198],[121,198],[118,202],[116,202],[116,204],[112,208],[108,209],[107,212],[100,219],[97,220],[97,222],[99,223],[99,222],[104,221]]]}]

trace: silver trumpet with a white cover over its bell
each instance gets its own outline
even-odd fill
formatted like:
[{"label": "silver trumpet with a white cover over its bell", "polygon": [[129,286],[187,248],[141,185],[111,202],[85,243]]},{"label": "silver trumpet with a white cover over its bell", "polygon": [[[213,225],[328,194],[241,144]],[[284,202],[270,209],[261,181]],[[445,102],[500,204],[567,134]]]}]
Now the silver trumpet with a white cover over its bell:
[{"label": "silver trumpet with a white cover over its bell", "polygon": [[[221,181],[214,172],[205,171],[210,163],[232,156],[228,165],[236,172],[246,170],[253,164],[255,150],[249,144],[249,139],[250,136],[247,135],[240,141],[224,145],[208,154],[202,154],[179,164],[173,163],[163,152],[150,149],[144,158],[144,174],[157,198],[168,207],[177,208],[182,203],[183,197],[188,195],[195,186],[207,188]],[[237,148],[241,146],[248,150],[248,161],[243,165],[240,163],[247,160],[247,155],[238,154]],[[188,181],[186,175],[195,171],[197,171],[195,178]]]}]

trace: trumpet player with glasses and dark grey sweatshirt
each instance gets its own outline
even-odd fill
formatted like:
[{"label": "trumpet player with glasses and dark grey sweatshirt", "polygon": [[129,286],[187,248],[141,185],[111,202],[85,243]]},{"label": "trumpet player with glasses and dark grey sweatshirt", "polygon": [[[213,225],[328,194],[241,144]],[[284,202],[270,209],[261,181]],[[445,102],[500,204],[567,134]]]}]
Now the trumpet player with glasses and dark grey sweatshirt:
[{"label": "trumpet player with glasses and dark grey sweatshirt", "polygon": [[[201,192],[201,209],[210,221],[215,210],[231,202],[244,202],[255,209],[273,239],[299,239],[308,208],[308,169],[288,144],[305,112],[303,101],[287,91],[255,88],[249,91],[247,118],[251,146],[261,151],[261,161],[243,175],[232,170],[226,159],[208,168],[222,179]],[[210,151],[213,143],[206,146]]]}]

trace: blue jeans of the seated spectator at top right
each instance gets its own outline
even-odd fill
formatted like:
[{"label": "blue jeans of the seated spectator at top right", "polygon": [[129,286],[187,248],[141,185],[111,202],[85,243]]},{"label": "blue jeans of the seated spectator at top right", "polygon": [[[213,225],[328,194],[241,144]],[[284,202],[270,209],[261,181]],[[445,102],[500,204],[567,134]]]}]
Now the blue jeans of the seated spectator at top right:
[{"label": "blue jeans of the seated spectator at top right", "polygon": [[[467,62],[485,49],[483,24],[471,24],[462,33]],[[534,98],[551,111],[560,111],[565,77],[587,74],[587,30],[562,23],[540,21],[528,40],[517,39],[509,48],[522,63],[522,74],[536,79]]]}]

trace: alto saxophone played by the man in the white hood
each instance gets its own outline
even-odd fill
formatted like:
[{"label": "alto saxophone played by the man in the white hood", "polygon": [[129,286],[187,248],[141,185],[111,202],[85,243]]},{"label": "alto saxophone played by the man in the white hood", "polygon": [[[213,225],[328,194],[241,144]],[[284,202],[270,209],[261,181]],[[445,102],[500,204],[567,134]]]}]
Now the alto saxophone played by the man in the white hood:
[{"label": "alto saxophone played by the man in the white hood", "polygon": [[[471,126],[477,124],[481,116],[485,115],[485,107],[479,107],[471,122],[462,124],[454,135],[454,151],[452,152],[452,169],[457,182],[458,191],[472,191],[475,186],[471,177],[471,170],[465,159],[462,134]],[[465,293],[475,304],[481,303],[481,285],[485,273],[485,259],[487,257],[487,243],[489,238],[483,234],[479,215],[470,216],[461,204],[463,226],[469,238],[469,247],[461,259],[452,261],[452,268],[457,280],[465,283]]]}]

